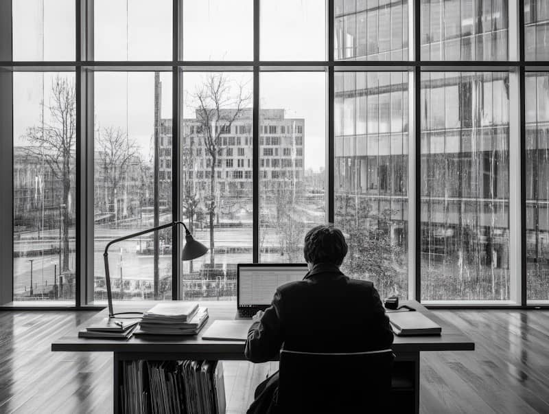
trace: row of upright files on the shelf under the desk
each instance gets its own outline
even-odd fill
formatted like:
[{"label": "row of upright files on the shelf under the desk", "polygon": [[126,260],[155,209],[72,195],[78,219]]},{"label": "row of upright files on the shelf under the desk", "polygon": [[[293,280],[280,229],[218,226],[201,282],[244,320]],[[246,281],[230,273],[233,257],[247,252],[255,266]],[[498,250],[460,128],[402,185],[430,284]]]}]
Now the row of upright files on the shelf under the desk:
[{"label": "row of upright files on the shelf under the desk", "polygon": [[123,361],[121,411],[152,414],[224,414],[221,361]]}]

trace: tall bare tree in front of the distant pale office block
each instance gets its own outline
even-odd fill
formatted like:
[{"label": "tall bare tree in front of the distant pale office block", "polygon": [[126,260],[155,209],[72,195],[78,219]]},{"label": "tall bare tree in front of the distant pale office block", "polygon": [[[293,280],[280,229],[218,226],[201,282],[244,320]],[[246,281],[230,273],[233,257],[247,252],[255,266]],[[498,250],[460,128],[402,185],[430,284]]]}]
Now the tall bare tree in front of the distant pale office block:
[{"label": "tall bare tree in front of the distant pale office block", "polygon": [[[236,90],[233,90],[236,89]],[[213,241],[213,222],[217,209],[215,198],[218,188],[215,169],[218,157],[222,154],[221,135],[229,133],[233,122],[242,115],[250,104],[251,93],[245,84],[235,85],[223,73],[210,73],[192,95],[196,104],[196,116],[199,124],[198,137],[205,147],[206,156],[211,159],[209,194],[205,198],[209,215],[210,229],[210,267],[215,265],[215,244]]]}]

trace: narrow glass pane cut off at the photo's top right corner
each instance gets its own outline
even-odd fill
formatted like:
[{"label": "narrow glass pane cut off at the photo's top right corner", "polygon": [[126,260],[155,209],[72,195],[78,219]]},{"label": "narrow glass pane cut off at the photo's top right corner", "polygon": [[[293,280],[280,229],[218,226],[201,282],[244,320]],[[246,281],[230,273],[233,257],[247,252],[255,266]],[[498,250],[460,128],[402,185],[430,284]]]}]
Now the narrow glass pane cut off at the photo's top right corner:
[{"label": "narrow glass pane cut off at the photo's top right corner", "polygon": [[549,60],[549,1],[524,0],[526,60]]}]

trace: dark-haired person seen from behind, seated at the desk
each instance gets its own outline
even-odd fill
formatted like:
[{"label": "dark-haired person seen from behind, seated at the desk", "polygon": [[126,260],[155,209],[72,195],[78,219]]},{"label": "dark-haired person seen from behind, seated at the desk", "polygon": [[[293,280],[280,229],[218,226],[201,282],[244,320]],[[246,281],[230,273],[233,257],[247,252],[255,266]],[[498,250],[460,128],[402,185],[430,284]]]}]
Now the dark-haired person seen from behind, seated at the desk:
[{"label": "dark-haired person seen from behind, seated at the desk", "polygon": [[[388,349],[393,330],[371,281],[340,271],[347,255],[343,233],[320,225],[305,235],[303,255],[309,272],[303,280],[274,293],[269,308],[253,317],[245,355],[253,363],[276,358],[285,349],[302,352],[366,352]],[[248,414],[274,410],[278,372],[261,382]]]}]

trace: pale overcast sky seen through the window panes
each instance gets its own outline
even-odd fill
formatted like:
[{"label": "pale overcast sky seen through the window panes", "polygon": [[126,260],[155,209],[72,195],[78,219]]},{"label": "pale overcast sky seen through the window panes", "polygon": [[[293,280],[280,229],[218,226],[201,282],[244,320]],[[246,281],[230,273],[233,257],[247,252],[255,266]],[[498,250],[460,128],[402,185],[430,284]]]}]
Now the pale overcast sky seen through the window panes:
[{"label": "pale overcast sky seen through the window panes", "polygon": [[[171,60],[172,0],[95,0],[96,60]],[[154,4],[154,7],[151,5]],[[325,60],[325,0],[262,0],[262,60]],[[14,60],[73,60],[73,0],[14,0]],[[252,60],[253,0],[183,0],[185,60]],[[39,121],[58,73],[15,73],[14,143]],[[61,73],[74,79],[73,73]],[[204,73],[185,73],[183,96]],[[248,82],[251,73],[227,73]],[[261,73],[260,106],[305,118],[305,168],[325,165],[324,72]],[[161,73],[162,117],[172,116],[172,74]],[[119,126],[145,157],[154,131],[154,73],[96,72],[95,128]],[[184,112],[188,115],[188,102]],[[191,111],[192,112],[192,111]],[[46,114],[47,117],[47,114]]]}]

